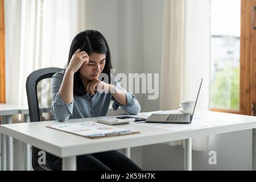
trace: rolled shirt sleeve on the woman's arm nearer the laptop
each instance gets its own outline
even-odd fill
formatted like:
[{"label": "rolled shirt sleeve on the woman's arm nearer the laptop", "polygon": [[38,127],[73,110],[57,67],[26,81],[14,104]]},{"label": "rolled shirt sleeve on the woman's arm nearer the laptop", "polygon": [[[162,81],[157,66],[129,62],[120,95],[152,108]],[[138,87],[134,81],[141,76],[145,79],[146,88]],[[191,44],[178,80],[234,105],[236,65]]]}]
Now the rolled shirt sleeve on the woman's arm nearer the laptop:
[{"label": "rolled shirt sleeve on the woman's arm nearer the laptop", "polygon": [[117,100],[115,100],[115,98],[112,96],[112,100],[114,101],[112,105],[113,109],[117,110],[118,107],[120,106],[128,114],[131,114],[131,115],[139,114],[139,111],[141,111],[141,106],[139,105],[139,102],[135,98],[134,94],[128,93],[125,89],[123,89],[116,78],[115,78],[115,87],[125,93],[127,105],[125,106],[125,105],[119,104]]}]

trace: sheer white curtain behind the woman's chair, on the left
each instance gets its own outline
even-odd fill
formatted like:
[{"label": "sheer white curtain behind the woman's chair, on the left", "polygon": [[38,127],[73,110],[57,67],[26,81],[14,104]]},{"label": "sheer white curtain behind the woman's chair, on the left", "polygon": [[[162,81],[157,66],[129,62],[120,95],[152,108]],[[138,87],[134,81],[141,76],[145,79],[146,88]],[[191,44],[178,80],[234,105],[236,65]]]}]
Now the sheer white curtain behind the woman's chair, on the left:
[{"label": "sheer white curtain behind the woman's chair, on the left", "polygon": [[6,100],[27,104],[26,78],[64,68],[74,36],[92,26],[90,0],[5,0]]}]

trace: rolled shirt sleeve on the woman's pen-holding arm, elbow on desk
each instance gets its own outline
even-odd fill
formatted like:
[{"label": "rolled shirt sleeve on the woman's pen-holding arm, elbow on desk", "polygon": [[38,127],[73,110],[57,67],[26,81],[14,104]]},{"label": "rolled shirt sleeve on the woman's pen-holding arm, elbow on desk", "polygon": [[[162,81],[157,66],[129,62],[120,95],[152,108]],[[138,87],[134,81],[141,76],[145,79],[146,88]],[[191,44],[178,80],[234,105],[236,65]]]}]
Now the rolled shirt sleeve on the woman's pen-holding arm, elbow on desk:
[{"label": "rolled shirt sleeve on the woman's pen-holding arm, elbow on desk", "polygon": [[66,104],[60,97],[59,90],[63,81],[63,73],[56,73],[52,77],[51,81],[51,92],[52,92],[52,117],[57,121],[67,121],[68,118],[73,114],[74,101],[70,104]]}]

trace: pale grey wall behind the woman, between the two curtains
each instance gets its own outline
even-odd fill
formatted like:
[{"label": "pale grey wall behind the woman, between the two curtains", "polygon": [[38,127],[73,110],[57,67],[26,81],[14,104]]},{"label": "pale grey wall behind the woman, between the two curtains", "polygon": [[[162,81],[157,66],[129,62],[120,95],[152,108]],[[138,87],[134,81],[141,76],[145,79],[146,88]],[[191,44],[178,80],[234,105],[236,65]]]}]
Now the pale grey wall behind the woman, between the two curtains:
[{"label": "pale grey wall behind the woman, between the two curtains", "polygon": [[[160,73],[163,2],[94,1],[93,28],[108,40],[116,73]],[[135,96],[142,111],[158,110],[159,100],[147,100],[147,94]]]}]

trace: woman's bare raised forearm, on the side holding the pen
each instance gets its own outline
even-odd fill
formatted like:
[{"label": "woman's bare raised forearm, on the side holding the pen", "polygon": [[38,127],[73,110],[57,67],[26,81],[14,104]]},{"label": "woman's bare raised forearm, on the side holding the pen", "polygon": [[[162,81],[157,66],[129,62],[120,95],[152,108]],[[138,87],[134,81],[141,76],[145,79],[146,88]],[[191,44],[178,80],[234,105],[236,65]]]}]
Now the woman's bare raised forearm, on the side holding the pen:
[{"label": "woman's bare raised forearm, on the side holding the pen", "polygon": [[74,72],[66,70],[60,86],[59,94],[65,104],[69,104],[73,101],[74,74]]}]

